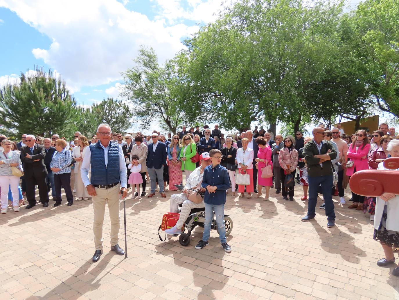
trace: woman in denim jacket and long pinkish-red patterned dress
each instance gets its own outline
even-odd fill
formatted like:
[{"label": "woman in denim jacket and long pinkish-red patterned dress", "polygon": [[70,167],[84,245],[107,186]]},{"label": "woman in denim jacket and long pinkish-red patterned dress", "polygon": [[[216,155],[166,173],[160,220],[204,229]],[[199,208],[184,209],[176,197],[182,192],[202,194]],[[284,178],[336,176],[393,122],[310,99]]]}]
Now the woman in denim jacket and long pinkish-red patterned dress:
[{"label": "woman in denim jacket and long pinkish-red patterned dress", "polygon": [[182,145],[180,144],[179,137],[175,134],[172,137],[172,142],[168,147],[169,159],[169,190],[177,191],[175,184],[179,185],[183,181],[182,161],[180,160],[180,151]]}]

